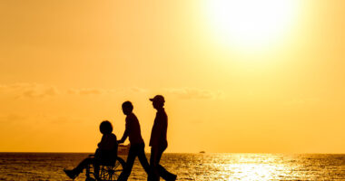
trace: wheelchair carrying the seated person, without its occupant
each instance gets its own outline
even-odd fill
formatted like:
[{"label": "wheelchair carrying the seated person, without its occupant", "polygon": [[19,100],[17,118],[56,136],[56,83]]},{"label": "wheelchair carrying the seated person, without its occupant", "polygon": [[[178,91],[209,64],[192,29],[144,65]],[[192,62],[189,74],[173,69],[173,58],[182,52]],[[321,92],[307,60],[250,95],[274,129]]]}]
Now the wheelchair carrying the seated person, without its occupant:
[{"label": "wheelchair carrying the seated person, without its occupant", "polygon": [[[94,157],[90,155],[89,157]],[[90,164],[86,167],[85,181],[116,181],[123,172],[125,162],[123,158],[116,157],[114,163],[101,164],[98,176],[94,173],[94,165]]]}]

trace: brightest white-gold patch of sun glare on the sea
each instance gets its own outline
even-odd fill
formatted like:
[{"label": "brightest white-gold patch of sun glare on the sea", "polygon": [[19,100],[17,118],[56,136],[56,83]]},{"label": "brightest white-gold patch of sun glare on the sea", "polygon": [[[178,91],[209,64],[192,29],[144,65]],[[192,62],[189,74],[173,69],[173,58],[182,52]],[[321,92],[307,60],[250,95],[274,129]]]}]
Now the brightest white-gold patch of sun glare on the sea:
[{"label": "brightest white-gold patch of sun glare on the sea", "polygon": [[283,161],[282,155],[277,154],[213,156],[208,167],[210,177],[199,177],[195,180],[284,180],[291,176],[293,169]]}]

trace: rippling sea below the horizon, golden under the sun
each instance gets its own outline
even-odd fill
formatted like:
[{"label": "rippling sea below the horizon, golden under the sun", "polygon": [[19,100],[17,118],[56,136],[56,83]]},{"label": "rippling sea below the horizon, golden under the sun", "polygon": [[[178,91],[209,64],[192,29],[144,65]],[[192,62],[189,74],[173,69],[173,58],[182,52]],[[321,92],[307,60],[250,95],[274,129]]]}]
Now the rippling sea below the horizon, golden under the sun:
[{"label": "rippling sea below the horizon, golden under the sun", "polygon": [[[0,153],[0,180],[71,180],[63,169],[76,166],[87,155]],[[164,154],[162,165],[178,180],[190,181],[345,180],[344,154]],[[84,179],[81,174],[75,180]],[[137,160],[129,180],[146,180]]]}]

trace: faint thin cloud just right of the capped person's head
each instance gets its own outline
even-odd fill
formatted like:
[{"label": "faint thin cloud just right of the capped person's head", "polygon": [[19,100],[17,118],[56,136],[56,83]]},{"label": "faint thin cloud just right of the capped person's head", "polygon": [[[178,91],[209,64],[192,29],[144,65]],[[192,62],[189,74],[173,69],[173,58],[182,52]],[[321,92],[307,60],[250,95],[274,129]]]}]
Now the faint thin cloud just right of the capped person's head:
[{"label": "faint thin cloud just right of the capped person's head", "polygon": [[182,88],[182,89],[166,89],[168,93],[172,93],[183,100],[207,100],[216,99],[222,96],[222,91],[212,91],[212,90],[200,90],[195,88]]}]

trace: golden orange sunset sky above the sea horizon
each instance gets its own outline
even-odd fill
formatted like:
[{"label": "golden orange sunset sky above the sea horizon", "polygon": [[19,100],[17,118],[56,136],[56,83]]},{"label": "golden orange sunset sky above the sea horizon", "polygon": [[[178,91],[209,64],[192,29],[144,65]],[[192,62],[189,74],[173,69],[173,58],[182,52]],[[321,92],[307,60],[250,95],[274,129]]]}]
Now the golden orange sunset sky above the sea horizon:
[{"label": "golden orange sunset sky above the sea horizon", "polygon": [[[0,1],[0,152],[93,152],[131,100],[167,152],[345,153],[345,1]],[[128,141],[127,141],[128,142]]]}]

